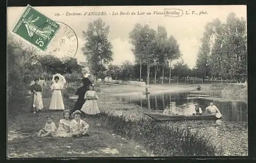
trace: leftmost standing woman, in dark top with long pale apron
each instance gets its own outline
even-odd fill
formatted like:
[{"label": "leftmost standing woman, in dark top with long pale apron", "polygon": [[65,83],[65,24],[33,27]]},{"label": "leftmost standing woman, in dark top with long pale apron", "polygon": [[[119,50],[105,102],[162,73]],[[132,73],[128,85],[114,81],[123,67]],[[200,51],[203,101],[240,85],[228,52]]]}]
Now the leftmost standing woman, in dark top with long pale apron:
[{"label": "leftmost standing woman, in dark top with long pale apron", "polygon": [[38,111],[41,111],[41,109],[44,107],[44,104],[42,104],[42,88],[38,84],[38,79],[35,79],[35,84],[33,84],[30,88],[32,92],[32,111],[33,113],[36,113]]}]

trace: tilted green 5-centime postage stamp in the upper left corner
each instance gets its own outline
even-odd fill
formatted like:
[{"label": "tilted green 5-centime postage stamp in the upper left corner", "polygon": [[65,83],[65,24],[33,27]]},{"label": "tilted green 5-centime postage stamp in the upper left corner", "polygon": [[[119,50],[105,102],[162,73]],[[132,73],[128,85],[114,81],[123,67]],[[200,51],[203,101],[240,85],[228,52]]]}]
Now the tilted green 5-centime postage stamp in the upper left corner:
[{"label": "tilted green 5-centime postage stamp in the upper left corner", "polygon": [[45,51],[59,28],[60,25],[56,21],[28,5],[12,32]]}]

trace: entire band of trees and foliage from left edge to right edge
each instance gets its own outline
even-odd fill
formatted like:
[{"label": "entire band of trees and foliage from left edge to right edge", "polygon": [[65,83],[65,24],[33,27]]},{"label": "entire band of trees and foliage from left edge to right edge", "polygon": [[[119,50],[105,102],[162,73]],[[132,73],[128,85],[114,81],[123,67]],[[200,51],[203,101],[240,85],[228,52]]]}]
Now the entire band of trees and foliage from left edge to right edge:
[{"label": "entire band of trees and foliage from left edge to right edge", "polygon": [[[208,22],[201,38],[196,66],[190,69],[181,59],[178,41],[168,35],[163,26],[156,30],[148,25],[136,24],[129,37],[133,45],[135,64],[130,61],[121,66],[113,61],[112,44],[108,39],[110,26],[102,19],[90,22],[83,31],[86,40],[82,51],[96,78],[112,76],[120,80],[138,80],[155,83],[173,80],[189,81],[200,78],[220,79],[231,82],[247,79],[247,31],[246,20],[230,13],[225,22],[215,19]],[[8,91],[19,95],[35,77],[51,80],[55,73],[64,74],[75,81],[81,77],[81,66],[75,58],[59,59],[52,55],[39,56],[33,48],[25,48],[21,41],[8,33]]]}]

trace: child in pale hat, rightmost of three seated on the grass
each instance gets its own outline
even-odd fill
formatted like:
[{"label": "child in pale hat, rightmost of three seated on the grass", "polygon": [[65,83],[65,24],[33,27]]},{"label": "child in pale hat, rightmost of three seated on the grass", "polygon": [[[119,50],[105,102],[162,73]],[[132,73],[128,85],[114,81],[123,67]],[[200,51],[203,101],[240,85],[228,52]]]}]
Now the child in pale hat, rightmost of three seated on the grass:
[{"label": "child in pale hat, rightmost of three seated on the grass", "polygon": [[72,132],[72,136],[74,137],[80,137],[83,135],[89,136],[88,128],[89,124],[87,124],[85,121],[81,120],[81,111],[76,110],[73,112],[74,119],[70,123],[70,130]]}]

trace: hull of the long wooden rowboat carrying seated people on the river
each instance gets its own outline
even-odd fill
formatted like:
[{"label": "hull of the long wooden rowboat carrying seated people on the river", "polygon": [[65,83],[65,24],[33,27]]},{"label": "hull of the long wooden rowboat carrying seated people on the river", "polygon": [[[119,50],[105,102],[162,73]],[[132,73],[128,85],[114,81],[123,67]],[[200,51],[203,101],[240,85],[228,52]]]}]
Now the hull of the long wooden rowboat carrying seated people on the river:
[{"label": "hull of the long wooden rowboat carrying seated people on the river", "polygon": [[148,117],[157,121],[176,121],[176,120],[218,120],[216,115],[170,115],[160,113],[145,113]]}]

